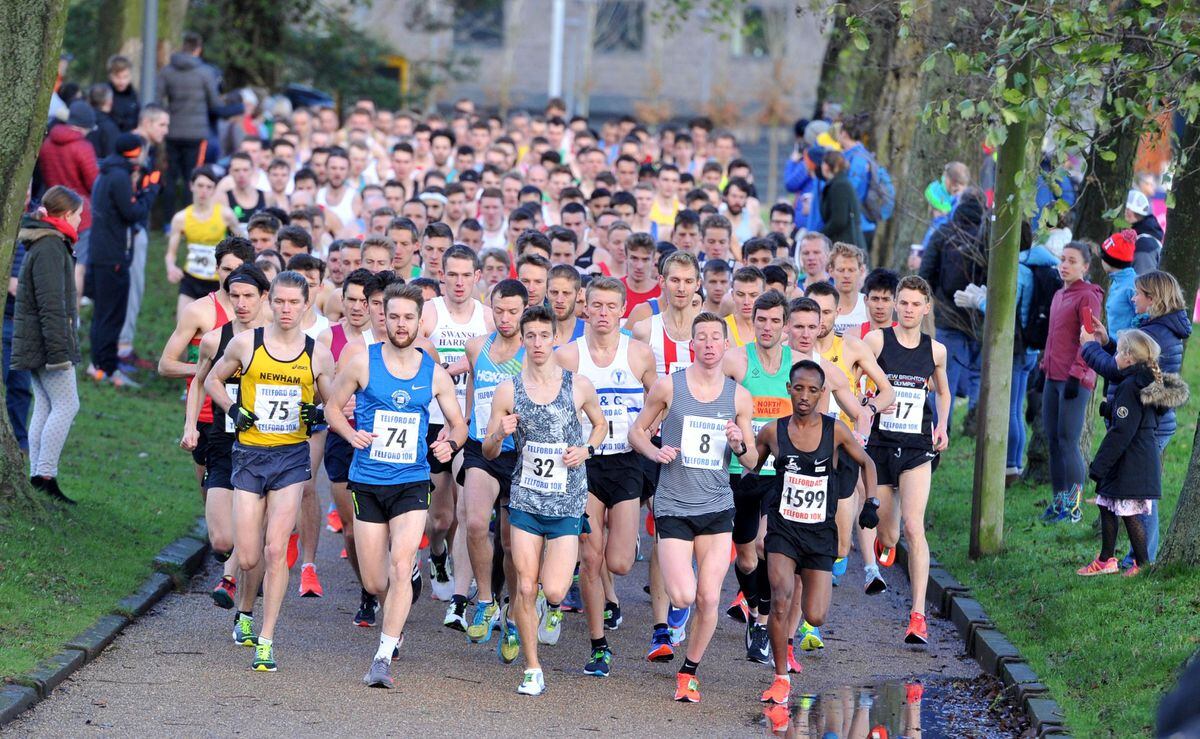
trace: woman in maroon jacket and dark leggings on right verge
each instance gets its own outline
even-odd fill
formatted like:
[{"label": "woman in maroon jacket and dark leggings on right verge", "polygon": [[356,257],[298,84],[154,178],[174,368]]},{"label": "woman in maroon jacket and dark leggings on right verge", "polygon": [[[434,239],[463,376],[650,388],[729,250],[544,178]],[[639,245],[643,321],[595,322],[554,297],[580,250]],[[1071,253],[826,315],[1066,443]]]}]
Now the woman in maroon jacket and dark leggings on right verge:
[{"label": "woman in maroon jacket and dark leggings on right verge", "polygon": [[1042,422],[1050,443],[1050,481],[1054,499],[1042,515],[1044,522],[1082,518],[1080,504],[1087,465],[1079,449],[1087,402],[1096,387],[1096,372],[1084,362],[1079,347],[1085,317],[1100,314],[1103,290],[1087,282],[1092,247],[1072,241],[1062,250],[1058,275],[1063,287],[1050,306],[1050,332],[1042,356],[1046,381],[1042,396]]}]

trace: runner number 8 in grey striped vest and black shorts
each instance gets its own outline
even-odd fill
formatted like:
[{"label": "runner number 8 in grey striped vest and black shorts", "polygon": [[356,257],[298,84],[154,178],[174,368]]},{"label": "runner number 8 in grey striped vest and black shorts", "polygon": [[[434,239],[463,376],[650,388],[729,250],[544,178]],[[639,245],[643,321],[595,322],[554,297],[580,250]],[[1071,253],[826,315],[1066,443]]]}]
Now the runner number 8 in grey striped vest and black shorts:
[{"label": "runner number 8 in grey striped vest and black shorts", "polygon": [[[662,464],[654,495],[659,564],[671,599],[668,625],[679,626],[692,603],[696,621],[686,659],[676,675],[676,701],[700,702],[696,671],[716,629],[721,582],[730,569],[733,492],[728,457],[755,468],[758,451],[748,445],[754,401],[721,372],[728,325],[714,313],[692,322],[696,362],[660,378],[629,429],[634,449]],[[650,432],[662,417],[662,445]],[[695,557],[695,570],[692,558]],[[672,618],[673,617],[673,618]]]}]

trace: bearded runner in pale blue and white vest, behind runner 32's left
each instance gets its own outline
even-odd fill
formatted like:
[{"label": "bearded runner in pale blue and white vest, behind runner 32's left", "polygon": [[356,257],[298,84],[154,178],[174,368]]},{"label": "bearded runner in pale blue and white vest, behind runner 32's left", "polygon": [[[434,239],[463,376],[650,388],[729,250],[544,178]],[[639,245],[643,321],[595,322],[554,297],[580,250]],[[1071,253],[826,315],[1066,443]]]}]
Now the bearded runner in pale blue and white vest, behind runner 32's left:
[{"label": "bearded runner in pale blue and white vest, behind runner 32's left", "polygon": [[[512,470],[516,465],[516,447],[511,439],[505,439],[503,452],[494,457],[484,456],[482,443],[490,428],[492,414],[492,396],[496,386],[517,374],[524,361],[524,348],[521,346],[521,313],[524,312],[529,293],[516,280],[505,280],[492,290],[492,319],[496,330],[486,336],[476,336],[467,342],[467,364],[470,373],[467,377],[467,410],[470,417],[470,435],[463,447],[463,494],[458,500],[458,525],[467,529],[467,552],[470,567],[475,572],[479,585],[479,601],[475,614],[467,627],[467,638],[473,643],[487,643],[492,630],[503,624],[502,659],[511,662],[518,653],[516,635],[508,637],[508,619],[502,620],[497,602],[499,590],[498,575],[493,572],[493,547],[491,539],[492,512],[496,504],[502,504],[497,516],[496,536],[498,541],[508,539],[508,515],[503,504],[509,499],[512,485]],[[508,546],[504,547],[508,551]],[[509,557],[504,557],[505,570],[510,569]],[[457,583],[456,583],[457,584]],[[508,644],[505,644],[508,642]],[[508,650],[504,648],[508,647]]]}]

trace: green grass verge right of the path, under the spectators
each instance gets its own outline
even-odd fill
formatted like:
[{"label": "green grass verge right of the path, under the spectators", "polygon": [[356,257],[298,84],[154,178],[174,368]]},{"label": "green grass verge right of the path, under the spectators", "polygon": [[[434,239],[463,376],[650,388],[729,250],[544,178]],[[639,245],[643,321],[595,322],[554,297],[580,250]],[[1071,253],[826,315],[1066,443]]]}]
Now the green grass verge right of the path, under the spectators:
[{"label": "green grass verge right of the path, under the spectators", "polygon": [[[1162,535],[1187,473],[1200,411],[1200,354],[1183,375],[1192,401],[1166,449]],[[960,419],[956,419],[956,422]],[[955,426],[958,428],[958,426]],[[1096,443],[1103,437],[1097,419]],[[1099,551],[1094,505],[1080,524],[1037,523],[1049,486],[1018,485],[1004,504],[1004,552],[967,558],[974,444],[956,438],[935,474],[926,524],[934,555],[1016,644],[1062,705],[1076,737],[1135,737],[1153,731],[1154,711],[1183,661],[1200,647],[1200,570],[1150,571],[1127,579],[1075,575]],[[1085,498],[1094,495],[1088,486]],[[1118,542],[1118,557],[1128,542]]]}]

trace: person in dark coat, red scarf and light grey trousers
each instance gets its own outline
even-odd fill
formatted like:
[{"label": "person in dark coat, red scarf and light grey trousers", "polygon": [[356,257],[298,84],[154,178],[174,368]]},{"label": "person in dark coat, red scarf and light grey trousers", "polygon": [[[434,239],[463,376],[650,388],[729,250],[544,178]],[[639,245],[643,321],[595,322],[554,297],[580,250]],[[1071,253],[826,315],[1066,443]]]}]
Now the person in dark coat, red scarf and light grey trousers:
[{"label": "person in dark coat, red scarf and light grey trousers", "polygon": [[79,410],[74,374],[80,359],[76,343],[79,311],[71,246],[85,208],[83,197],[72,190],[50,187],[42,197],[42,209],[22,220],[17,235],[26,252],[17,280],[12,366],[32,372],[30,483],[68,504],[74,501],[59,488],[58,475],[59,456]]}]

